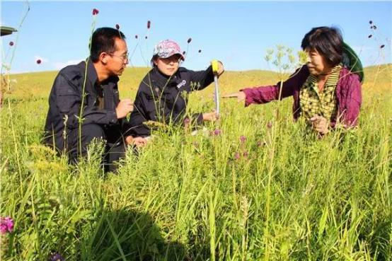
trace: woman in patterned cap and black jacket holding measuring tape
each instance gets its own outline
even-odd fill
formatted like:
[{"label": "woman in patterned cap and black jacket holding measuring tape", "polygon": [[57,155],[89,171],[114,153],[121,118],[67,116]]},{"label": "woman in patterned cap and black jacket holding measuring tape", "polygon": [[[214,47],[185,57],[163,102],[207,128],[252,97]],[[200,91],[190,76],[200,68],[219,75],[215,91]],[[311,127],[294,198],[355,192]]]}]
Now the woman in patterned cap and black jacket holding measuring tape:
[{"label": "woman in patterned cap and black jacket holding measuring tape", "polygon": [[[185,124],[217,120],[217,112],[185,115],[188,93],[202,90],[214,81],[211,66],[205,71],[191,71],[180,67],[185,60],[180,46],[163,40],[154,47],[153,68],[144,76],[134,100],[134,111],[129,123],[132,137],[148,137],[151,129],[146,123]],[[218,76],[224,72],[219,62]]]}]

